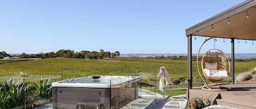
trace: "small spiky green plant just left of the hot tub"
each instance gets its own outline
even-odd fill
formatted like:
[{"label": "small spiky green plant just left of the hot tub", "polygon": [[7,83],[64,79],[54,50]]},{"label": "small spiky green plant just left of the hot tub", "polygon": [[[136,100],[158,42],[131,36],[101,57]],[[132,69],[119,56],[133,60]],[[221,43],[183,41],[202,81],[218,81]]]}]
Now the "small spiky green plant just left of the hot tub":
[{"label": "small spiky green plant just left of the hot tub", "polygon": [[51,79],[40,79],[39,84],[34,81],[34,87],[42,98],[49,98],[52,95]]}]

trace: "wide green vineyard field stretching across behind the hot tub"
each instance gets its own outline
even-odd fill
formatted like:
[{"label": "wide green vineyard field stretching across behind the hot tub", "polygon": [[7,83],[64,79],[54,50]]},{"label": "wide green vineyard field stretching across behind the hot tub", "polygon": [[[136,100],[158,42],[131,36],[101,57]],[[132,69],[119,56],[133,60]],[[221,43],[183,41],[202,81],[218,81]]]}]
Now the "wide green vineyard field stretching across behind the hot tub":
[{"label": "wide green vineyard field stretching across behind the hot tub", "polygon": [[[89,75],[134,75],[144,74],[154,79],[159,68],[165,66],[171,78],[187,76],[187,61],[156,60],[118,57],[111,60],[58,59],[48,58],[32,61],[0,61],[0,76],[19,75],[62,75],[62,78],[79,78]],[[235,62],[235,74],[248,72],[256,67],[256,62]],[[198,76],[196,62],[193,61],[193,76]]]}]

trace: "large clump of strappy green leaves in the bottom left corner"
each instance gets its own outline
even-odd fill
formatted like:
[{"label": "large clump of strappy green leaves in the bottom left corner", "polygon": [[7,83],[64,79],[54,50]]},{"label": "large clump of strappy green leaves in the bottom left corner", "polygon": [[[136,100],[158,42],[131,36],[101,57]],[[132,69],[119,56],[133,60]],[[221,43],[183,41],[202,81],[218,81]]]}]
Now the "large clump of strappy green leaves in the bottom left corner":
[{"label": "large clump of strappy green leaves in the bottom left corner", "polygon": [[23,105],[24,92],[29,86],[25,87],[22,78],[5,79],[4,84],[0,85],[0,108],[12,108]]}]

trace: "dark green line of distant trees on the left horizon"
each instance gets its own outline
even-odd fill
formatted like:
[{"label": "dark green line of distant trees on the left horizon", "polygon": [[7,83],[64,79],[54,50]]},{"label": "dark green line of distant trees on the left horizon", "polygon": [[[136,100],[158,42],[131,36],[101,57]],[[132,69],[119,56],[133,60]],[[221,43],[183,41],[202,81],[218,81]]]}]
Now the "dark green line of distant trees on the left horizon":
[{"label": "dark green line of distant trees on the left horizon", "polygon": [[63,58],[80,58],[80,59],[106,59],[106,58],[114,58],[120,56],[120,52],[116,51],[114,53],[104,52],[103,49],[100,49],[100,52],[96,51],[88,51],[82,50],[81,52],[74,52],[74,50],[64,50],[60,49],[56,53],[49,52],[49,53],[39,53],[39,54],[26,54],[22,53],[21,55],[9,55],[5,52],[0,52],[0,58],[6,56],[14,56],[20,58],[53,58],[53,57],[63,57]]}]

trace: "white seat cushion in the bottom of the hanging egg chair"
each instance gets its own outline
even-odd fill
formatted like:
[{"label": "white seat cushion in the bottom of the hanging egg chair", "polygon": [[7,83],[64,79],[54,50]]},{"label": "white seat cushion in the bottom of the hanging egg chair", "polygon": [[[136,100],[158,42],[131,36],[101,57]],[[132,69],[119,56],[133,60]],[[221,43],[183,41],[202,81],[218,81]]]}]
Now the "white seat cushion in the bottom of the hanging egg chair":
[{"label": "white seat cushion in the bottom of the hanging egg chair", "polygon": [[212,79],[224,79],[228,77],[227,70],[218,70],[218,69],[207,69],[205,68],[205,73]]}]

